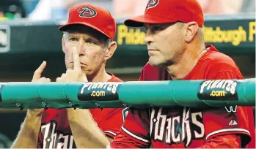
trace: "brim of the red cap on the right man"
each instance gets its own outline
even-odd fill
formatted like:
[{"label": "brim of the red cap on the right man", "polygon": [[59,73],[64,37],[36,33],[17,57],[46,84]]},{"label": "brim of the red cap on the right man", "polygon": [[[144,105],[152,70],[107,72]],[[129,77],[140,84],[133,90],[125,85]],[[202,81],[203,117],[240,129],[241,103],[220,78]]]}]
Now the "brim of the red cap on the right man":
[{"label": "brim of the red cap on the right man", "polygon": [[178,20],[173,20],[170,18],[163,18],[156,15],[139,15],[135,18],[131,18],[128,20],[125,20],[125,26],[131,26],[131,27],[141,27],[144,23],[172,23],[177,22]]}]

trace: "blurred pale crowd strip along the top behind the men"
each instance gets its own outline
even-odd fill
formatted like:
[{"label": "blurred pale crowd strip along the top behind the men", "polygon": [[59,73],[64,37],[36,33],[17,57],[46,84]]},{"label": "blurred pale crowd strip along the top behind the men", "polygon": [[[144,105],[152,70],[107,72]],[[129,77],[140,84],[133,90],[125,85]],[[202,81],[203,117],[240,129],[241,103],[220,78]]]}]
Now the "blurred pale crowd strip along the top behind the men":
[{"label": "blurred pale crowd strip along the top behind the men", "polygon": [[[198,0],[205,14],[255,13],[255,0]],[[66,20],[75,4],[89,3],[109,9],[116,18],[143,14],[148,0],[1,0],[0,20]]]}]

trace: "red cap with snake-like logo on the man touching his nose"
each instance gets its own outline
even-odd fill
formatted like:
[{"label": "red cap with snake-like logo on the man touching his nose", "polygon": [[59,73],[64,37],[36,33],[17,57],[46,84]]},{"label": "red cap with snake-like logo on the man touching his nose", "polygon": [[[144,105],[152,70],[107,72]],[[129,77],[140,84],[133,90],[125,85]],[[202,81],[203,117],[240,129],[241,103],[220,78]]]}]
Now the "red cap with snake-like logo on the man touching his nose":
[{"label": "red cap with snake-like logo on the man touching his nose", "polygon": [[60,31],[66,31],[72,25],[84,25],[94,28],[114,40],[116,22],[107,9],[92,4],[79,4],[70,9],[67,24],[60,26]]}]

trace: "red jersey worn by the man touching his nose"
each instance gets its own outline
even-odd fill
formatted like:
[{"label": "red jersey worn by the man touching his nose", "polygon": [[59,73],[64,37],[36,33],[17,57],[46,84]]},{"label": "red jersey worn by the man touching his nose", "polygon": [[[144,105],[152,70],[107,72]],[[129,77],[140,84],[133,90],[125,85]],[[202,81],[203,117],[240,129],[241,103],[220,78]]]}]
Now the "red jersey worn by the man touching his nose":
[{"label": "red jersey worn by the man touching his nose", "polygon": [[[112,75],[108,82],[122,82]],[[122,126],[122,108],[91,109],[92,118],[106,136],[114,138]],[[67,110],[44,110],[37,148],[76,148],[67,119]]]}]

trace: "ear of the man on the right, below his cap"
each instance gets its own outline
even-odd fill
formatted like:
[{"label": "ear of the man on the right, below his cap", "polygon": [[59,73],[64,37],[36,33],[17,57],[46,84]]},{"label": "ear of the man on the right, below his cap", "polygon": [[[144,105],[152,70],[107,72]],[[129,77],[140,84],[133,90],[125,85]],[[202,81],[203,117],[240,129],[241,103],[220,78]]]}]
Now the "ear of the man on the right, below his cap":
[{"label": "ear of the man on the right, below his cap", "polygon": [[199,26],[196,22],[186,23],[186,34],[185,34],[186,42],[193,41],[194,37],[196,37],[197,35],[198,28]]}]

